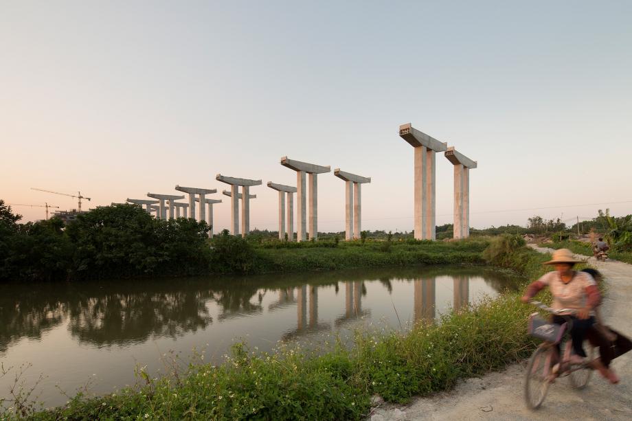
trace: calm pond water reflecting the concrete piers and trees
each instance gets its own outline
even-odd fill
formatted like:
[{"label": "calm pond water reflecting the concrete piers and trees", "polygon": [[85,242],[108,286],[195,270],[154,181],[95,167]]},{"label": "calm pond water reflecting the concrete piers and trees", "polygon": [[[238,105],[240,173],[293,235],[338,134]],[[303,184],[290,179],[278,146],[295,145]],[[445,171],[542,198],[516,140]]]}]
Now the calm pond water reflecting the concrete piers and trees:
[{"label": "calm pond water reflecting the concrete piers and trees", "polygon": [[[221,361],[234,343],[271,350],[279,340],[314,343],[372,323],[407,328],[515,283],[485,268],[371,269],[249,277],[10,284],[0,297],[0,363],[32,363],[39,400],[60,405],[88,381],[96,394],[135,383],[135,365],[155,372],[170,351],[205,349]],[[0,377],[8,397],[14,375]]]}]

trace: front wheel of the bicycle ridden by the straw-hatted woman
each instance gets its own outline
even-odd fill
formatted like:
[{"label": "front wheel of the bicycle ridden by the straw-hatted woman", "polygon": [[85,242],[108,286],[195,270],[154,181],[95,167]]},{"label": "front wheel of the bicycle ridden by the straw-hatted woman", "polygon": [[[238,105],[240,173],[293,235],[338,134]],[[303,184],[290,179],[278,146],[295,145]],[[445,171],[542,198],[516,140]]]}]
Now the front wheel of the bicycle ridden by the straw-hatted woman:
[{"label": "front wheel of the bicycle ridden by the straw-hatted woman", "polygon": [[527,365],[527,376],[524,385],[524,397],[529,409],[538,409],[550,385],[550,376],[554,351],[540,346],[533,352]]}]

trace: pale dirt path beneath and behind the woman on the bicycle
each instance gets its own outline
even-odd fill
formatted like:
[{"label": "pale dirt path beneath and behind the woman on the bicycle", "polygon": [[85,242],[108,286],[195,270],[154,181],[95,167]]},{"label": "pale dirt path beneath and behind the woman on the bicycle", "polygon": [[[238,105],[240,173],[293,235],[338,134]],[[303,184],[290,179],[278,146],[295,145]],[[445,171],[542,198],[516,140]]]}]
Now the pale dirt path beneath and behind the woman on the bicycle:
[{"label": "pale dirt path beneath and behind the woman on the bicycle", "polygon": [[[594,258],[589,262],[603,273],[608,285],[602,306],[607,323],[632,337],[632,265]],[[504,372],[466,380],[452,391],[418,398],[406,407],[378,409],[371,420],[632,420],[632,352],[614,360],[612,367],[621,378],[618,385],[594,373],[585,389],[575,390],[567,378],[561,378],[551,385],[538,411],[525,406],[524,365],[517,364]]]}]

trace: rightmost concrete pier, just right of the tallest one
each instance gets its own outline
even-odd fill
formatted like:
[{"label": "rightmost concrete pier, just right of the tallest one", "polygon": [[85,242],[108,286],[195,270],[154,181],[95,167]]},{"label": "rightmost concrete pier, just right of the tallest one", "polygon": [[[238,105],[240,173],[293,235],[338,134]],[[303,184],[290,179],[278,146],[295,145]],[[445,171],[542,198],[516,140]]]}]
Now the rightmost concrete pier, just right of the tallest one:
[{"label": "rightmost concrete pier, just right of the tallest one", "polygon": [[450,146],[445,157],[454,166],[454,236],[468,238],[470,236],[470,170],[477,167],[477,162],[457,152]]}]

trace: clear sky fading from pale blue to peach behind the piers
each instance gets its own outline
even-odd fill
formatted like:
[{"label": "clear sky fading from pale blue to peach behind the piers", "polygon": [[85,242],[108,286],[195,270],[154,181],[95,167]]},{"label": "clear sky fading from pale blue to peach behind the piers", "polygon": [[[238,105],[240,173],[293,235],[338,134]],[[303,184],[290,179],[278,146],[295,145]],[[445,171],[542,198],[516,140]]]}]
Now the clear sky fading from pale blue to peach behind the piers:
[{"label": "clear sky fading from pale blue to peach behind the piers", "polygon": [[[223,174],[262,180],[251,229],[277,229],[288,156],[331,166],[319,231],[344,229],[334,168],[372,177],[363,229],[410,231],[411,122],[478,161],[473,227],[630,214],[630,21],[632,1],[0,0],[0,198],[94,207]],[[442,154],[436,179],[451,223]]]}]

